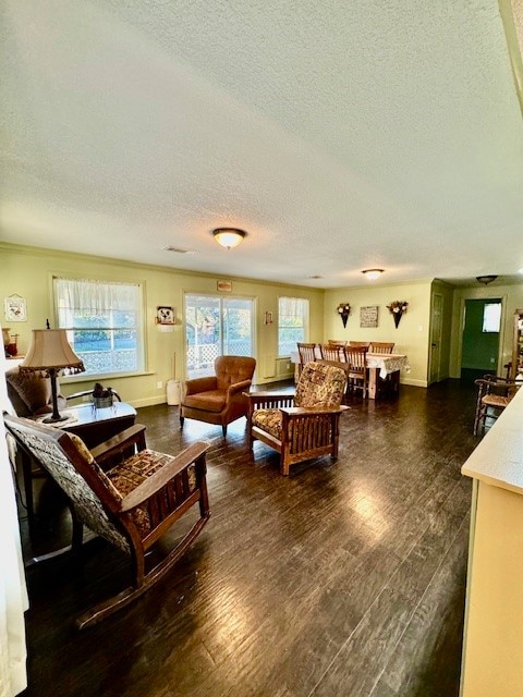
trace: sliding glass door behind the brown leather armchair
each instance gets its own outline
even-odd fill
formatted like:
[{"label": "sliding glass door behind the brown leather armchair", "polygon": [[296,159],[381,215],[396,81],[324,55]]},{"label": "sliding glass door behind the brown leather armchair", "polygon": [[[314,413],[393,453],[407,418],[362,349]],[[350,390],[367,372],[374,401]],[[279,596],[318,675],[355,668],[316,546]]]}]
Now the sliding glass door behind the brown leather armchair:
[{"label": "sliding glass door behind the brown leather armchair", "polygon": [[187,378],[215,372],[218,356],[254,356],[254,299],[185,294]]}]

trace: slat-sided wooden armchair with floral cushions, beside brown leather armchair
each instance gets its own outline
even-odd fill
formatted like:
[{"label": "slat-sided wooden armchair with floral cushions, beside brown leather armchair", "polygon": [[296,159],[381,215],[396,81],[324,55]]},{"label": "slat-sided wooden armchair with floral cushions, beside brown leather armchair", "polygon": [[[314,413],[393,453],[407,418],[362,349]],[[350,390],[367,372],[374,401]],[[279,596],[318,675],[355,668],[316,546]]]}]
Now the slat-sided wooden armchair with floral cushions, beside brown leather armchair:
[{"label": "slat-sided wooden armchair with floral cushions, beside brown leather armchair", "polygon": [[289,475],[294,463],[330,455],[338,457],[344,370],[317,362],[302,370],[295,394],[250,393],[248,449],[254,440],[280,453],[280,472]]}]

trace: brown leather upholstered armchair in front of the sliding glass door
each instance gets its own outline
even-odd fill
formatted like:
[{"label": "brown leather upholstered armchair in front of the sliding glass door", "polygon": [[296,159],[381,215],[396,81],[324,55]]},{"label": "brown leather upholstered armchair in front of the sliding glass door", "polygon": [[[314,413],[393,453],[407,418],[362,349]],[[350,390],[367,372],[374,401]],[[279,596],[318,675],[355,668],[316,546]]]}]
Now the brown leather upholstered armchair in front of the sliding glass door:
[{"label": "brown leather upholstered armchair in front of the sliding glass door", "polygon": [[216,375],[187,380],[180,405],[180,428],[185,418],[194,418],[221,425],[224,438],[228,424],[247,415],[244,391],[251,387],[255,368],[256,360],[248,356],[218,356]]}]

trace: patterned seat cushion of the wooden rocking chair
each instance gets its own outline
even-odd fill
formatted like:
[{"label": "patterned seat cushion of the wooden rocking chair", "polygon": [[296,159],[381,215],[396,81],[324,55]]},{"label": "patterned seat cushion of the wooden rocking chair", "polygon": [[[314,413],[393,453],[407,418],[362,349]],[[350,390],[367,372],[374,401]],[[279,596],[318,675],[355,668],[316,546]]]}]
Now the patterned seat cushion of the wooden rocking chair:
[{"label": "patterned seat cushion of the wooden rocking chair", "polygon": [[[118,490],[119,494],[121,497],[125,497],[172,460],[174,460],[172,455],[157,453],[154,450],[142,450],[136,455],[132,455],[123,463],[117,465],[112,469],[109,469],[107,476],[112,486]],[[174,482],[169,485],[169,491],[166,496],[171,497],[174,501],[177,500],[177,497],[181,497],[180,502],[186,499],[187,496],[196,488],[196,473],[194,464],[188,467],[187,475],[188,478],[186,481],[184,481],[182,476],[178,476],[175,478],[178,486],[174,486]],[[179,489],[179,487],[181,487],[181,489]],[[185,490],[183,490],[184,488]],[[150,529],[151,525],[149,522],[149,514],[145,506],[137,508],[132,515],[142,534],[145,534]]]}]

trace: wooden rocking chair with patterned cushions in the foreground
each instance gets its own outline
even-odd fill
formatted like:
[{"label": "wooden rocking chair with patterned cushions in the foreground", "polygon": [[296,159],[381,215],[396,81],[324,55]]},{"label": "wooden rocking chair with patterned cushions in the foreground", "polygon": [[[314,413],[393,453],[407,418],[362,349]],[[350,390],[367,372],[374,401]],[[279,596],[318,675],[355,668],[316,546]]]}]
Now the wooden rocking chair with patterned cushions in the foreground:
[{"label": "wooden rocking chair with patterned cushions in the foreground", "polygon": [[[51,426],[9,415],[4,415],[4,423],[17,445],[68,497],[73,550],[82,545],[85,524],[130,555],[132,586],[82,615],[80,628],[99,622],[150,588],[209,518],[207,443],[194,443],[173,457],[147,450],[145,427],[133,426],[89,451],[77,436]],[[199,517],[191,529],[162,561],[146,568],[147,552],[196,503]]]}]

